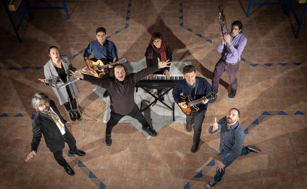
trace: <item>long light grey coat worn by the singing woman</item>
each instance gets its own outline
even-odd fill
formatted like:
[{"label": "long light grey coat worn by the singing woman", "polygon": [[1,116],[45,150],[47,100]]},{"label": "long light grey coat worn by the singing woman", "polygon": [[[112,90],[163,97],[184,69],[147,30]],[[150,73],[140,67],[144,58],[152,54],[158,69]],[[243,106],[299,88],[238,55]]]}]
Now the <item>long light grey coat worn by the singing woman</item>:
[{"label": "long light grey coat worn by the singing woman", "polygon": [[[70,79],[71,79],[70,70],[76,71],[76,68],[74,68],[72,66],[68,56],[61,55],[60,58],[61,58],[63,67],[64,67],[65,72],[66,72],[67,81],[70,81]],[[64,84],[64,82],[61,80],[56,68],[54,67],[51,59],[44,65],[44,74],[45,74],[45,78],[49,81],[49,83],[46,83],[46,85],[52,86],[52,90],[56,94],[56,96],[59,100],[59,103],[61,105],[63,105],[64,103],[68,102],[68,95],[67,95],[66,87],[62,87],[59,90],[57,90],[56,87],[55,87],[55,83],[52,80],[52,76],[53,76],[53,78],[55,78],[56,84],[58,86]],[[78,90],[76,82],[73,82],[73,83],[69,84],[68,86],[69,86],[70,92],[72,94],[72,97],[76,98],[76,96],[79,94],[79,90]]]}]

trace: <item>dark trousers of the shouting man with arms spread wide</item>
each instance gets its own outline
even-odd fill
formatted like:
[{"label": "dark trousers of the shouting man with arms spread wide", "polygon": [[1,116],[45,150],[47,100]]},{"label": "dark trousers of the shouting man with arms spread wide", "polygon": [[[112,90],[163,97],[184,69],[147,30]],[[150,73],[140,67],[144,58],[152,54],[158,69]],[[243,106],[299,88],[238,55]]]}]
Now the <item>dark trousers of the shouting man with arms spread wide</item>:
[{"label": "dark trousers of the shouting man with arms spread wide", "polygon": [[[147,128],[150,126],[137,105],[135,105],[134,108],[127,115],[133,117],[134,119],[137,119],[143,127]],[[111,117],[107,123],[106,135],[111,134],[113,127],[116,126],[116,124],[123,118],[123,116],[125,115],[116,113],[111,110]]]}]

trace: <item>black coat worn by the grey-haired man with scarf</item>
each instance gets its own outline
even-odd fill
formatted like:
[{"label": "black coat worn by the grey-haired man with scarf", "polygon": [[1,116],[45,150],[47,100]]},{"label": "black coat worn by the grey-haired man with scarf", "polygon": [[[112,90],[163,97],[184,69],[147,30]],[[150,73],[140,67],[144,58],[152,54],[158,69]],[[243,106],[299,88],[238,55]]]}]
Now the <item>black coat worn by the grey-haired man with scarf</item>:
[{"label": "black coat worn by the grey-haired man with scarf", "polygon": [[[50,101],[50,107],[53,109],[54,112],[56,112],[56,114],[58,114],[61,119],[61,122],[65,124],[67,121],[62,118],[58,108],[55,105],[55,102],[52,100]],[[32,127],[33,138],[31,143],[31,151],[35,150],[37,152],[37,148],[42,134],[44,135],[46,145],[51,152],[56,152],[64,148],[65,143],[61,131],[58,128],[57,124],[48,114],[37,111],[32,122]],[[71,135],[66,125],[64,127],[65,134]],[[71,135],[71,137],[73,136]]]}]

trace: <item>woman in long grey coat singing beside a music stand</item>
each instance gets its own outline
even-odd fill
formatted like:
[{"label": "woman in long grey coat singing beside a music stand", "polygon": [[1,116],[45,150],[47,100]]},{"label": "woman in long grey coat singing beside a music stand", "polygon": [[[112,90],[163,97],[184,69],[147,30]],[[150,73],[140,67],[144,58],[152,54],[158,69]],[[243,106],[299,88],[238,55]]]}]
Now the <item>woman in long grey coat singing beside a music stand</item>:
[{"label": "woman in long grey coat singing beside a music stand", "polygon": [[77,69],[72,66],[66,55],[60,55],[59,48],[55,46],[49,48],[49,56],[51,57],[50,60],[44,65],[45,79],[38,80],[46,83],[48,86],[52,86],[52,90],[56,94],[60,104],[64,105],[68,111],[71,121],[81,120],[80,113],[77,110],[76,96],[79,94],[79,90],[76,82],[59,89],[55,87],[55,84],[60,86],[69,82],[70,70],[76,71]]}]

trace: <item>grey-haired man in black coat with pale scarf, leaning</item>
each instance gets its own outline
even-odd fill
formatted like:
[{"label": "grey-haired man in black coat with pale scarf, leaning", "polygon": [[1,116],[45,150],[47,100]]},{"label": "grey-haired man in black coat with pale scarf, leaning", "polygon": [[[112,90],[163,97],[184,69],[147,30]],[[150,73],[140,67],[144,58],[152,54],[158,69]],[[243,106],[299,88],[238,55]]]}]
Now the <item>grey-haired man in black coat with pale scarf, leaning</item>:
[{"label": "grey-haired man in black coat with pale scarf, leaning", "polygon": [[71,154],[84,156],[86,153],[77,149],[76,140],[66,127],[70,122],[62,118],[55,102],[50,100],[44,93],[35,93],[32,98],[32,107],[37,112],[32,122],[33,138],[31,152],[25,161],[31,162],[31,158],[37,155],[37,148],[43,134],[46,145],[53,152],[56,161],[64,167],[67,174],[74,175],[73,169],[63,158],[62,149],[65,147],[64,142],[68,144]]}]

